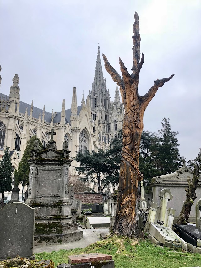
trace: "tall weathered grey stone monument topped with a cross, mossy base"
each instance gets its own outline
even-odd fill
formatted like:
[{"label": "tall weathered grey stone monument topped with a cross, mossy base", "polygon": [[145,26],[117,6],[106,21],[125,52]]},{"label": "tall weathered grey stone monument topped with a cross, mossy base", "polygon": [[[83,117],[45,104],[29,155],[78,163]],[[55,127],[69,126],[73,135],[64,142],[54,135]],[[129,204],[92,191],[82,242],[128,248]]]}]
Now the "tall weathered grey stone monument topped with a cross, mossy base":
[{"label": "tall weathered grey stone monument topped with a cross, mossy base", "polygon": [[46,150],[40,150],[37,141],[31,150],[28,198],[26,204],[36,208],[35,244],[71,242],[83,238],[72,221],[68,198],[68,144],[57,150],[52,129]]}]

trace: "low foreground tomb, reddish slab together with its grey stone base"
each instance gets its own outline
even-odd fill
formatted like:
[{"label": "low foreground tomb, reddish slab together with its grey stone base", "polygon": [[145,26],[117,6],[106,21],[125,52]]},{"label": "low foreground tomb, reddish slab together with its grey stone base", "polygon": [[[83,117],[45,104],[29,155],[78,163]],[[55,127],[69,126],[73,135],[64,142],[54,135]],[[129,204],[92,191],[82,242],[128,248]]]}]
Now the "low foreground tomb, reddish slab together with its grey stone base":
[{"label": "low foreground tomb, reddish slab together with its grey stone base", "polygon": [[68,256],[69,267],[74,268],[114,268],[114,260],[111,255],[102,253],[90,253]]}]

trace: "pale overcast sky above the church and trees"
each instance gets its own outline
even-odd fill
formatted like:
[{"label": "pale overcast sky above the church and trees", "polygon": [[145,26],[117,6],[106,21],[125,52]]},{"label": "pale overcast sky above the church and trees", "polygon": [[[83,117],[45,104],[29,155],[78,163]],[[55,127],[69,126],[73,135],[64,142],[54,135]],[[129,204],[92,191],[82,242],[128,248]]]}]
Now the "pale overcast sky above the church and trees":
[{"label": "pale overcast sky above the church and trees", "polygon": [[[9,95],[18,74],[21,101],[33,99],[34,106],[58,112],[62,99],[71,107],[75,86],[80,105],[93,82],[98,41],[119,73],[119,56],[132,68],[135,11],[145,56],[139,94],[175,73],[147,107],[144,130],[156,132],[170,118],[180,155],[194,159],[201,147],[200,0],[0,0],[0,91]],[[116,85],[103,60],[102,67],[113,100]]]}]

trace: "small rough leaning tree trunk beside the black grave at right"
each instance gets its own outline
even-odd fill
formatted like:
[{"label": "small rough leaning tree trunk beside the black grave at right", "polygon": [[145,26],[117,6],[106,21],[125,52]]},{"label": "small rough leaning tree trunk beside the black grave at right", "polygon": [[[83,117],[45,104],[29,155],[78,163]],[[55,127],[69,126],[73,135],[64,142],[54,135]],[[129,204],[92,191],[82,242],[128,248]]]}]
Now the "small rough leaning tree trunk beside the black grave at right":
[{"label": "small rough leaning tree trunk beside the black grave at right", "polygon": [[192,181],[191,181],[191,177],[188,176],[188,188],[185,188],[186,201],[184,202],[182,206],[182,210],[177,219],[177,224],[187,225],[188,223],[188,218],[190,215],[191,207],[192,205],[195,205],[193,201],[197,198],[195,190],[198,187],[198,181],[199,181],[199,168],[198,166],[195,165]]}]

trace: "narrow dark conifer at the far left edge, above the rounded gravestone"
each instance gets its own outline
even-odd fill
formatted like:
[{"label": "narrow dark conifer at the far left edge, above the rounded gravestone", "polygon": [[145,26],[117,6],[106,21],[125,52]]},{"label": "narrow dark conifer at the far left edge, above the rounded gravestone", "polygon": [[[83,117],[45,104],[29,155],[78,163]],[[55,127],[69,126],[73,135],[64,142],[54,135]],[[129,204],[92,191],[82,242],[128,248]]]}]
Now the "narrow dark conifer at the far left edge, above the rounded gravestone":
[{"label": "narrow dark conifer at the far left edge, above the rounded gravestone", "polygon": [[0,161],[0,193],[4,200],[4,192],[12,190],[12,164],[9,156],[9,147],[6,147]]}]

